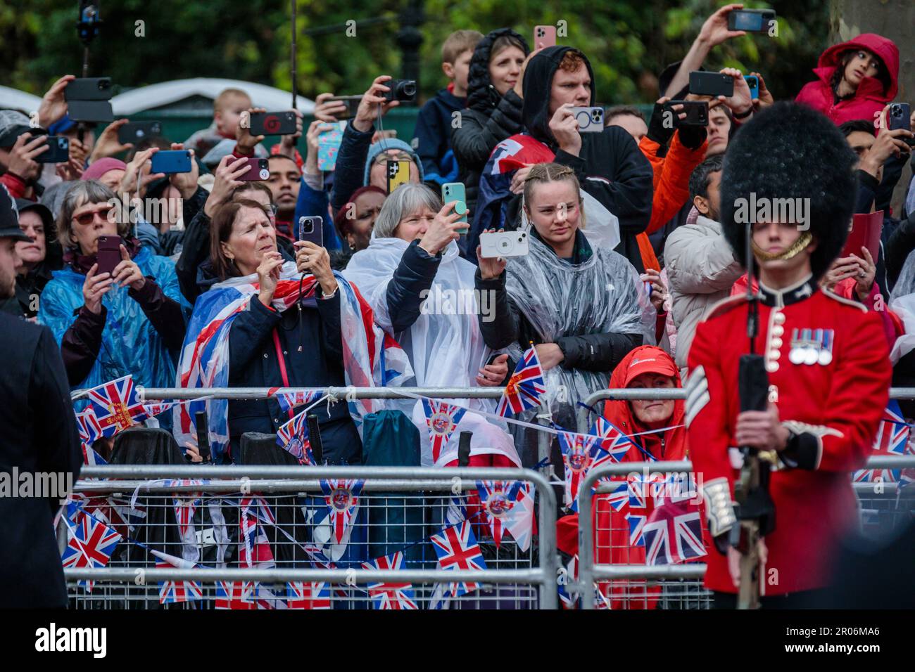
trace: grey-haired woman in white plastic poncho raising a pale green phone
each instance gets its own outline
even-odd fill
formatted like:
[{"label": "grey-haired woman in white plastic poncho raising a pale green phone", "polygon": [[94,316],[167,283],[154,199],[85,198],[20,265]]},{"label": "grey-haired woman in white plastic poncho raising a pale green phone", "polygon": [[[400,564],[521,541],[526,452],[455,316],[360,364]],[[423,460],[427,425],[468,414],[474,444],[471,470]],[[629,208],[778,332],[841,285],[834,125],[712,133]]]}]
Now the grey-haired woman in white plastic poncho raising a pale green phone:
[{"label": "grey-haired woman in white plastic poncho raising a pale green phone", "polygon": [[[404,348],[418,387],[499,386],[508,375],[508,356],[483,342],[477,315],[488,314],[491,304],[478,303],[474,295],[474,266],[458,255],[456,242],[464,224],[453,210],[454,203],[443,206],[425,185],[397,187],[375,219],[369,247],[353,254],[343,275],[371,304],[376,323]],[[496,400],[454,403],[489,412],[496,407]],[[410,405],[423,464],[457,463],[458,442],[434,454],[423,405]],[[521,464],[511,436],[499,424],[468,411],[454,435],[465,431],[473,432],[471,465]]]}]

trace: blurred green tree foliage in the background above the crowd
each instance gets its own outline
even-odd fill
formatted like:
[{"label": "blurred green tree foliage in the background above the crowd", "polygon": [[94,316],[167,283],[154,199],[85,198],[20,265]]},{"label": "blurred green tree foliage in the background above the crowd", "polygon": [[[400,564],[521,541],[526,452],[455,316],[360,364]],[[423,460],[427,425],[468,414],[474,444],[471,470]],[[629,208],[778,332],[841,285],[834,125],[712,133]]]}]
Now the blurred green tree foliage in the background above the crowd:
[{"label": "blurred green tree foliage in the background above the crowd", "polygon": [[[422,94],[431,96],[447,83],[440,53],[452,30],[486,33],[511,26],[530,38],[534,25],[563,20],[568,35],[559,41],[586,52],[600,102],[650,102],[657,97],[656,78],[664,65],[683,58],[705,17],[722,4],[424,0]],[[77,5],[75,0],[0,5],[0,83],[40,95],[59,75],[80,74]],[[92,44],[91,75],[110,75],[130,88],[188,77],[290,87],[290,0],[101,0],[101,5],[104,26]],[[823,0],[773,0],[769,6],[780,17],[778,38],[730,40],[712,52],[705,67],[756,69],[776,98],[793,96],[812,79],[810,70],[827,46],[826,5]],[[407,0],[298,0],[299,91],[310,97],[320,91],[359,93],[377,74],[401,74],[396,35],[406,6]],[[350,20],[356,22],[353,37],[346,35]],[[145,37],[136,37],[136,21],[144,22]]]}]

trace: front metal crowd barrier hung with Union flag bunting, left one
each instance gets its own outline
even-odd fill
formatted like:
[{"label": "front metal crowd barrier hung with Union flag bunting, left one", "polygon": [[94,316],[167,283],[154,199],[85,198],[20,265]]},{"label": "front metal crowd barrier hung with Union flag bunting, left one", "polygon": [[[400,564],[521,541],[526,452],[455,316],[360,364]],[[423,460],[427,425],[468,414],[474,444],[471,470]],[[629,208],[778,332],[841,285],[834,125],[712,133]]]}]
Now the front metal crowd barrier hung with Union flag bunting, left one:
[{"label": "front metal crowd barrier hung with Union flag bunting, left one", "polygon": [[[407,544],[404,549],[404,568],[392,570],[365,570],[361,568],[361,561],[374,560],[377,554],[362,552],[355,560],[339,560],[336,567],[321,569],[318,567],[302,567],[302,564],[311,564],[300,552],[308,544],[302,534],[306,528],[314,529],[314,519],[305,520],[307,509],[313,503],[315,507],[327,507],[321,495],[321,486],[318,479],[345,478],[364,479],[360,499],[360,511],[367,520],[357,522],[350,531],[348,547],[356,546],[357,549],[383,549],[382,555],[391,554],[399,548],[404,548],[403,539],[388,539],[387,532],[392,528],[385,522],[392,514],[400,511],[405,517],[411,514],[419,515],[418,522],[400,522],[393,525],[400,529],[404,535],[405,530],[415,533],[413,536],[423,541]],[[107,479],[107,480],[92,480]],[[113,480],[116,479],[116,480]],[[167,485],[157,479],[208,479],[206,484]],[[532,546],[522,552],[513,544],[510,536],[502,537],[501,547],[494,549],[493,540],[486,539],[488,528],[485,517],[477,517],[479,525],[473,525],[474,534],[477,536],[480,549],[483,551],[487,563],[486,570],[472,571],[447,571],[436,568],[436,554],[428,537],[438,529],[446,526],[445,511],[451,501],[451,496],[458,493],[467,493],[476,489],[478,480],[525,481],[533,484],[536,504],[536,535],[532,530]],[[152,482],[150,482],[152,481]],[[119,549],[108,566],[96,569],[66,569],[65,576],[70,589],[71,605],[75,608],[158,608],[159,581],[194,581],[199,585],[202,597],[192,602],[177,604],[179,608],[194,604],[193,608],[209,608],[218,599],[216,581],[258,582],[266,587],[267,594],[278,595],[280,584],[287,582],[305,581],[318,585],[328,584],[328,603],[334,608],[367,609],[371,608],[371,599],[366,591],[368,584],[379,581],[394,581],[397,583],[413,583],[414,597],[417,603],[428,603],[435,593],[434,584],[451,584],[458,581],[473,581],[479,583],[476,592],[452,600],[458,609],[499,609],[499,608],[532,608],[555,609],[557,603],[556,593],[556,540],[555,520],[556,502],[553,487],[543,475],[528,469],[503,469],[503,468],[421,468],[421,467],[328,467],[328,466],[195,466],[195,465],[104,465],[85,466],[82,469],[81,479],[74,487],[75,493],[84,496],[113,496],[119,497],[118,501],[124,507],[124,501],[129,500],[135,493],[137,501],[142,501],[145,507],[147,522],[146,532],[154,531],[156,539],[167,537],[167,523],[153,523],[164,521],[164,517],[157,516],[156,510],[164,510],[173,506],[173,499],[182,492],[194,493],[199,496],[198,511],[202,511],[211,503],[211,498],[225,503],[231,500],[232,495],[239,496],[246,493],[250,496],[260,495],[272,505],[273,515],[276,517],[274,534],[267,536],[270,546],[274,550],[273,567],[207,567],[207,562],[199,560],[200,567],[167,567],[156,568],[155,558],[146,553],[145,549],[137,547],[135,543],[124,544],[125,556],[122,557]],[[430,496],[427,493],[438,493]],[[204,493],[210,497],[203,496]],[[412,493],[418,493],[413,496]],[[310,500],[309,496],[315,499]],[[268,499],[269,498],[269,499]],[[282,503],[281,503],[281,500]],[[109,503],[112,500],[107,500]],[[304,504],[303,504],[304,503]],[[226,520],[231,526],[232,509],[235,505],[220,509],[223,525]],[[303,518],[297,522],[288,522],[290,516],[296,514],[296,509],[301,509]],[[404,513],[408,512],[408,513]],[[285,513],[284,515],[281,515]],[[297,514],[296,514],[297,515]],[[404,517],[404,520],[406,519]],[[468,518],[469,518],[468,509]],[[280,523],[280,518],[285,518],[286,523]],[[194,518],[191,518],[193,524]],[[210,520],[212,522],[212,520]],[[63,523],[63,521],[61,521]],[[362,526],[361,538],[356,539],[357,529]],[[156,528],[152,530],[152,528]],[[172,526],[174,527],[174,525]],[[149,535],[141,532],[142,526],[128,534],[132,539],[140,537],[149,541]],[[269,528],[269,526],[268,526]],[[285,528],[285,533],[279,528]],[[215,536],[215,526],[213,528]],[[291,530],[291,534],[290,534]],[[200,530],[203,533],[208,529]],[[377,539],[377,533],[383,532],[384,538]],[[66,543],[65,524],[59,528],[59,536]],[[285,534],[285,537],[284,537]],[[372,540],[372,537],[376,539]],[[172,534],[172,539],[175,539]],[[61,539],[59,539],[60,541]],[[197,551],[202,553],[208,546],[207,539],[202,539],[197,533]],[[212,541],[212,539],[210,539]],[[231,540],[226,539],[231,546]],[[184,549],[182,544],[171,544],[163,547],[159,543],[157,549],[170,548],[170,554],[181,556]],[[236,542],[237,543],[237,542]],[[210,544],[212,546],[212,544]],[[298,547],[298,548],[296,548]],[[282,549],[282,552],[281,550]],[[411,551],[411,549],[413,549]],[[304,558],[304,559],[303,559]],[[233,564],[229,562],[228,564]],[[270,563],[268,563],[270,564]],[[342,567],[350,564],[349,567]],[[434,569],[429,569],[430,566]],[[138,579],[142,577],[142,581]],[[76,585],[77,581],[94,581],[92,592],[84,592]],[[100,585],[101,584],[101,585]],[[273,587],[276,590],[272,593]],[[285,597],[285,585],[283,596]],[[283,608],[275,606],[283,603],[279,597],[258,598],[256,603],[262,608]],[[266,606],[264,606],[266,603]],[[245,606],[243,608],[255,608]],[[328,606],[314,607],[328,608]]]}]

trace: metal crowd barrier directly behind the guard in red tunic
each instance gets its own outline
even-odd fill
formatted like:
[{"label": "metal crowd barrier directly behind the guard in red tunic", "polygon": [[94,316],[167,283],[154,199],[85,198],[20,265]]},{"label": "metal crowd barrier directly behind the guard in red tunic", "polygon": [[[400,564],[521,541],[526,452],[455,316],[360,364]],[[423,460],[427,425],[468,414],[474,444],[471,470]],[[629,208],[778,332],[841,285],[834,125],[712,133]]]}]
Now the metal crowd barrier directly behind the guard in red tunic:
[{"label": "metal crowd barrier directly behind the guard in red tunic", "polygon": [[[644,391],[644,390],[639,390]],[[907,390],[908,393],[908,390]],[[899,397],[896,397],[897,399]],[[915,456],[876,456],[867,461],[867,469],[904,469],[915,467]],[[608,483],[595,485],[597,481],[611,476],[626,476],[630,474],[691,474],[693,464],[688,461],[680,462],[632,462],[621,464],[608,464],[604,467],[592,469],[587,473],[578,487],[578,581],[569,586],[571,591],[582,595],[582,608],[595,609],[596,599],[590,599],[596,587],[596,581],[611,581],[610,594],[605,602],[622,603],[624,608],[635,603],[636,608],[648,608],[647,603],[656,604],[667,608],[709,608],[711,593],[702,587],[705,576],[705,564],[688,562],[684,564],[596,564],[595,530],[590,521],[594,503],[592,494],[606,494],[612,491],[613,485]],[[911,517],[911,510],[915,510],[915,492],[905,491],[908,508],[899,507],[899,499],[893,507],[893,498],[901,492],[896,483],[855,483],[856,495],[859,501],[859,514],[864,518],[868,511],[883,519],[872,526],[880,531],[886,531],[896,525],[904,523]],[[592,489],[593,488],[593,489]],[[915,490],[915,488],[912,488]],[[872,493],[873,497],[867,496]],[[644,496],[648,496],[647,493]],[[865,505],[877,508],[865,508]],[[887,506],[890,505],[890,506]],[[882,516],[881,516],[882,515]],[[867,521],[862,519],[862,524],[867,527]],[[867,531],[867,530],[866,530]],[[673,543],[673,540],[670,540]],[[716,552],[714,549],[706,552]],[[628,583],[636,580],[638,582]],[[615,586],[613,581],[623,583],[622,590]],[[675,582],[674,582],[675,581]],[[591,586],[588,590],[587,587]],[[659,589],[651,592],[651,589]],[[647,590],[646,590],[647,589]]]}]

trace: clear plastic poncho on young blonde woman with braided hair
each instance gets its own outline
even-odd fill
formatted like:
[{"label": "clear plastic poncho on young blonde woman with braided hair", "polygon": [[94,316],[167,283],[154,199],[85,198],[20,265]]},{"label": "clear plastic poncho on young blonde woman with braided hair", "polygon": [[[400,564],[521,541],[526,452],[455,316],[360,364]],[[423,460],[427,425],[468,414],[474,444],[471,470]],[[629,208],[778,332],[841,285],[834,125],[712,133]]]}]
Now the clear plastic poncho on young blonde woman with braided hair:
[{"label": "clear plastic poncho on young blonde woman with braided hair", "polygon": [[[530,252],[508,261],[506,290],[544,342],[555,342],[562,336],[617,333],[638,334],[644,344],[654,344],[657,313],[639,273],[625,257],[590,243],[591,256],[573,264],[557,257],[536,236],[528,240]],[[517,360],[528,347],[516,342],[508,352]],[[544,371],[553,421],[576,430],[577,402],[606,389],[610,373],[564,368],[562,364]],[[546,409],[544,403],[542,409],[525,411],[520,419],[530,421]],[[529,439],[524,442],[527,449],[531,448]]]}]

